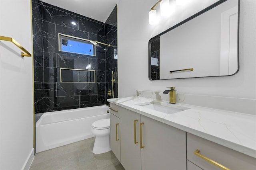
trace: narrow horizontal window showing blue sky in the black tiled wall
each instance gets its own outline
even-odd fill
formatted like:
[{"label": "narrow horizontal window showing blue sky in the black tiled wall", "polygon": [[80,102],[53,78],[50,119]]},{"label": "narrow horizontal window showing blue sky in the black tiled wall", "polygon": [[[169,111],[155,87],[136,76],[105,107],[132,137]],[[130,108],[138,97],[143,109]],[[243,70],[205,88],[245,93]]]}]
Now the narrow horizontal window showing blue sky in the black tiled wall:
[{"label": "narrow horizontal window showing blue sky in the black tiled wall", "polygon": [[92,42],[59,33],[59,51],[95,56],[95,45]]}]

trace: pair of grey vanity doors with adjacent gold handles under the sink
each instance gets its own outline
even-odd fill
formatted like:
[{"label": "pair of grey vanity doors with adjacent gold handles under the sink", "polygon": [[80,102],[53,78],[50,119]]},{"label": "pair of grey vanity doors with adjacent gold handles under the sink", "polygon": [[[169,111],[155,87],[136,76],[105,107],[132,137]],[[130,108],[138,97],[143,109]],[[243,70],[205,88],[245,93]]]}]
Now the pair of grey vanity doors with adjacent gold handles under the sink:
[{"label": "pair of grey vanity doors with adjacent gold handles under the sink", "polygon": [[120,107],[121,164],[126,170],[186,169],[186,132]]}]

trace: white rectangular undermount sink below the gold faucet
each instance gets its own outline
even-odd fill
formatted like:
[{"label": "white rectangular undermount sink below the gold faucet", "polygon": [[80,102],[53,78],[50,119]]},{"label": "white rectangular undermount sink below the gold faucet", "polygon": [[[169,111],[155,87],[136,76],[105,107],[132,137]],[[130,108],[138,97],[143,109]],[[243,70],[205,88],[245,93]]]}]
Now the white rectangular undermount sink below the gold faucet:
[{"label": "white rectangular undermount sink below the gold faucet", "polygon": [[170,106],[164,106],[161,103],[158,102],[150,102],[150,103],[144,103],[144,104],[138,104],[139,106],[148,108],[148,109],[152,109],[152,110],[156,110],[156,111],[160,111],[163,113],[167,113],[167,114],[172,114],[172,113],[177,113],[186,109],[189,109],[187,107],[182,107],[182,106],[175,106],[173,104],[170,104]]}]

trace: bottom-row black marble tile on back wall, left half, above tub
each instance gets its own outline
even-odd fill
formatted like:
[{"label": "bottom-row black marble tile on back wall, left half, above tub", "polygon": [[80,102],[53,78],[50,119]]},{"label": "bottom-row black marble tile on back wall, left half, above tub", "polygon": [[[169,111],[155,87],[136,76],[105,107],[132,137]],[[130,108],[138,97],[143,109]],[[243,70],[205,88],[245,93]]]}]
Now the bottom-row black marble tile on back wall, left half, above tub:
[{"label": "bottom-row black marble tile on back wall, left half, above tub", "polygon": [[44,112],[79,108],[79,96],[44,98]]}]

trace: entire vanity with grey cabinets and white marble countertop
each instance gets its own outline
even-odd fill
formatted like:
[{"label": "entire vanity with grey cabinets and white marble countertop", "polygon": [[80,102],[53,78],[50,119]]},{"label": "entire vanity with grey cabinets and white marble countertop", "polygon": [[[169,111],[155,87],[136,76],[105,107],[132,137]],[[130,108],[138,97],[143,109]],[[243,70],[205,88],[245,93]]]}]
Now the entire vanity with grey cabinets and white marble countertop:
[{"label": "entire vanity with grey cabinets and white marble countertop", "polygon": [[126,170],[256,169],[255,115],[144,97],[108,102],[110,145]]}]

